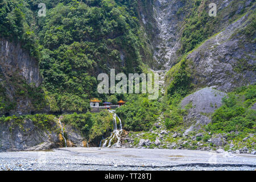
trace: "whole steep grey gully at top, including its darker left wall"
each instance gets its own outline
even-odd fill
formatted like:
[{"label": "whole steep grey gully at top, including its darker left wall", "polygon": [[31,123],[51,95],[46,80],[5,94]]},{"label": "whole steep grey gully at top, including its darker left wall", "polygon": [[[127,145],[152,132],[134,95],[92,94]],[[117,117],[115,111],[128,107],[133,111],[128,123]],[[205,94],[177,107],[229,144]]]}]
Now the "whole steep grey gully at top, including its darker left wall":
[{"label": "whole steep grey gully at top, including its darker left wall", "polygon": [[139,14],[150,38],[156,69],[170,69],[177,63],[177,50],[180,48],[180,22],[184,15],[177,16],[177,10],[184,6],[183,1],[141,1]]}]

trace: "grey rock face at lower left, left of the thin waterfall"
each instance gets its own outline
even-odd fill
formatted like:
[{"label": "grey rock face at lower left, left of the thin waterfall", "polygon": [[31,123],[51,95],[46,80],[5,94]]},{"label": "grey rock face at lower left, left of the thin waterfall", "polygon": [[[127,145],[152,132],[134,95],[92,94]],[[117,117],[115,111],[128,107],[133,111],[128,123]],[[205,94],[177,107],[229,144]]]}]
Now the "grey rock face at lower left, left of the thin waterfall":
[{"label": "grey rock face at lower left, left of the thin waterfall", "polygon": [[31,119],[25,119],[20,126],[14,121],[0,123],[0,151],[46,150],[59,147],[59,142],[55,131],[39,129]]}]

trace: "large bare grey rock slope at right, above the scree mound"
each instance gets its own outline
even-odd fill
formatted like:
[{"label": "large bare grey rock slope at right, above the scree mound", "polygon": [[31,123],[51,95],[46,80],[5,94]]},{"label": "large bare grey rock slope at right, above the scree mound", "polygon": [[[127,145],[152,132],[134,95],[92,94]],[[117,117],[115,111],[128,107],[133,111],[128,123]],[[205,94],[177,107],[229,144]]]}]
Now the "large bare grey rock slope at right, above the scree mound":
[{"label": "large bare grey rock slope at right, above the scree mound", "polygon": [[188,60],[193,61],[193,83],[199,88],[213,86],[230,92],[256,82],[255,43],[247,40],[240,31],[250,23],[248,16],[230,24],[187,56]]}]

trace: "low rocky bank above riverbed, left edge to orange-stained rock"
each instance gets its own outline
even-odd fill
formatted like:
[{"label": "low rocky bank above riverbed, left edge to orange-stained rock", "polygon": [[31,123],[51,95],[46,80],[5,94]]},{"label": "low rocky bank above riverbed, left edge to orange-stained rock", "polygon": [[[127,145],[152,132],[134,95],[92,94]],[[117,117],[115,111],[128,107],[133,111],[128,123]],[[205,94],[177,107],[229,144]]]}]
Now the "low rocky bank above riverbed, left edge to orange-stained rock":
[{"label": "low rocky bank above riverbed, left edge to orange-stained rock", "polygon": [[[42,127],[32,119],[0,122],[0,151],[48,150],[65,147],[57,118]],[[64,126],[64,125],[63,125]],[[67,147],[87,147],[86,140],[72,126],[64,126]]]}]

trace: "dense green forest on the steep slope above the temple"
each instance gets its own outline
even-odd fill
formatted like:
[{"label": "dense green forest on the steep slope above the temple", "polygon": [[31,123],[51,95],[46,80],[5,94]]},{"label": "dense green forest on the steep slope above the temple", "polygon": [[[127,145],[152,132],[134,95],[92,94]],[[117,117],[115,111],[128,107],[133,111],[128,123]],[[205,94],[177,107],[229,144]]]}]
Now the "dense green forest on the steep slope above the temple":
[{"label": "dense green forest on the steep slope above the temple", "polygon": [[136,14],[135,1],[113,0],[67,1],[47,11],[39,21],[40,69],[49,98],[55,100],[50,102],[59,107],[55,110],[86,111],[89,98],[104,98],[97,93],[95,77],[109,67],[141,72],[144,46]]}]

